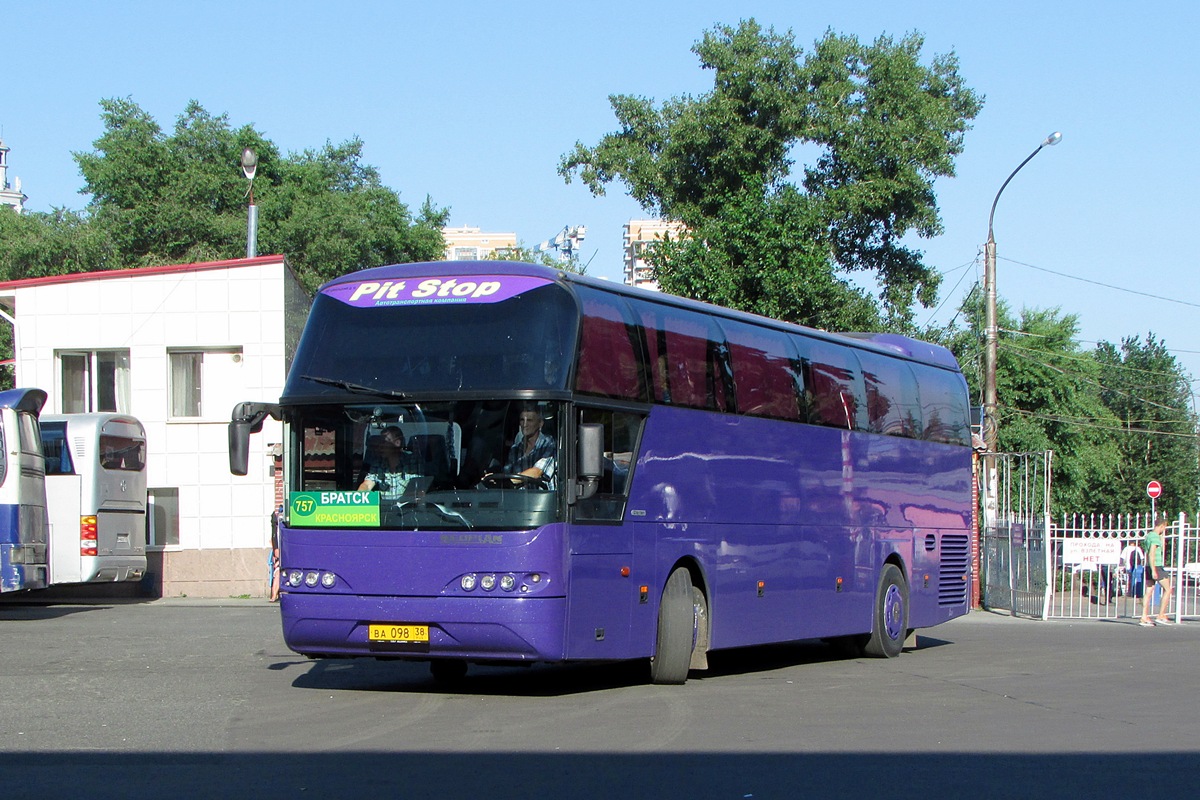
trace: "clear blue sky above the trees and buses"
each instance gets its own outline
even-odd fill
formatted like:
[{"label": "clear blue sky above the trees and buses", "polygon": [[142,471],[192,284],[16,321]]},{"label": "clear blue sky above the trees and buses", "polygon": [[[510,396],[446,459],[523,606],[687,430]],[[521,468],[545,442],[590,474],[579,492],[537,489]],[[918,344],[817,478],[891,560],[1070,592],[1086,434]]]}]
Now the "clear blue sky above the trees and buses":
[{"label": "clear blue sky above the trees and buses", "polygon": [[[1196,4],[414,2],[208,0],[7,4],[0,136],[37,211],[80,209],[71,154],[100,136],[98,101],[131,97],[164,128],[190,100],[252,124],[284,151],[360,137],[410,206],[529,246],[584,224],[589,272],[619,279],[622,224],[643,216],[613,185],[593,198],[556,174],[576,140],[614,130],[611,94],[698,94],[691,46],[754,17],[809,48],[827,29],[870,41],[920,31],[926,61],[954,50],[986,102],[958,176],[938,184],[946,233],[922,241],[944,275],[947,320],[982,279],[996,211],[997,287],[1014,309],[1079,314],[1081,339],[1154,332],[1200,377],[1193,236],[1200,127]],[[1061,275],[1056,275],[1061,273]],[[1064,277],[1069,276],[1069,277]],[[1106,285],[1100,285],[1106,284]],[[1114,288],[1110,288],[1114,287]]]}]

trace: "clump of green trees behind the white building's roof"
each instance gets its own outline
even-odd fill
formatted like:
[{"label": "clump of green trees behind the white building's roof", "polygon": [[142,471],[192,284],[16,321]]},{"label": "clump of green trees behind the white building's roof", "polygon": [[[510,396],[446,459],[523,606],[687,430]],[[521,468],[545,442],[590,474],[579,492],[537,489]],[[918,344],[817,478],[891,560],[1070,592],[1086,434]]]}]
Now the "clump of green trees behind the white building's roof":
[{"label": "clump of green trees behind the white building's roof", "polygon": [[259,161],[258,252],[287,255],[310,290],[356,269],[442,257],[448,211],[426,198],[414,217],[362,163],[359,139],[283,156],[253,127],[234,128],[194,101],[169,134],[132,100],[104,100],[101,109],[104,132],[92,151],[74,154],[86,209],[0,218],[0,275],[244,255],[245,148]]}]

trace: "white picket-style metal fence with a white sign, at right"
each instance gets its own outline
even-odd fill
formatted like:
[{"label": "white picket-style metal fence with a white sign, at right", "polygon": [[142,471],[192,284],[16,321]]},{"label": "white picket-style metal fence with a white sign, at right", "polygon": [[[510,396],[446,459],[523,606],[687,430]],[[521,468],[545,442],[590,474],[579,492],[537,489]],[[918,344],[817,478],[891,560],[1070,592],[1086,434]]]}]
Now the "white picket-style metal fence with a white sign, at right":
[{"label": "white picket-style metal fence with a white sign, at right", "polygon": [[[1150,515],[1064,516],[1051,527],[1046,616],[1139,616],[1147,583],[1142,540],[1150,527]],[[1180,515],[1166,531],[1164,551],[1174,589],[1171,618],[1200,616],[1200,528]]]}]

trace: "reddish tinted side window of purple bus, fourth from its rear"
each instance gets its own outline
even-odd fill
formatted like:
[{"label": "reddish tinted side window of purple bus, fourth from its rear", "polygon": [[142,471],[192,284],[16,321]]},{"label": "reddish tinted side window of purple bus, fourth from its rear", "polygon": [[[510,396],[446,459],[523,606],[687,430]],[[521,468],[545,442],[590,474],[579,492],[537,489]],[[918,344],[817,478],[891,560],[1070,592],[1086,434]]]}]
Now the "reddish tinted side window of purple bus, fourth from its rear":
[{"label": "reddish tinted side window of purple bus, fourth from its rear", "polygon": [[738,413],[798,421],[804,378],[791,338],[733,320],[722,319],[721,327],[733,367]]}]

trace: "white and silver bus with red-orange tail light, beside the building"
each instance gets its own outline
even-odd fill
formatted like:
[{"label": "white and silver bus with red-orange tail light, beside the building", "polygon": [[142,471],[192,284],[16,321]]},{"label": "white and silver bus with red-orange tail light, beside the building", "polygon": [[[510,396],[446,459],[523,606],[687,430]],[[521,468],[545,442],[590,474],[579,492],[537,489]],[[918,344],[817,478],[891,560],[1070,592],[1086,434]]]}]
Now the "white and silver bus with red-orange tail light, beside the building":
[{"label": "white and silver bus with red-orange tail light, beside the building", "polygon": [[50,583],[146,571],[146,437],[127,414],[44,414]]}]

